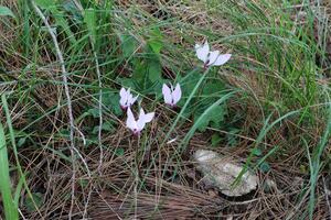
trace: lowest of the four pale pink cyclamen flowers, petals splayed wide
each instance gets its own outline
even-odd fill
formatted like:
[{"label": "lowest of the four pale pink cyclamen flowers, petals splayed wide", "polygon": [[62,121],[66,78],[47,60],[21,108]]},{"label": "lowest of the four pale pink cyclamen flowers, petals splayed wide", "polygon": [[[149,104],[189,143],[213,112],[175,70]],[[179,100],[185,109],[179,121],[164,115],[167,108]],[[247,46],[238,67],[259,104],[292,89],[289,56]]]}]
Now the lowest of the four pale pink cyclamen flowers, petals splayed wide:
[{"label": "lowest of the four pale pink cyclamen flowers, petals splayed wide", "polygon": [[150,122],[154,117],[154,112],[145,113],[142,108],[140,109],[138,120],[135,119],[130,108],[128,108],[127,114],[127,128],[129,128],[135,135],[139,135],[140,131],[145,128],[146,123]]}]

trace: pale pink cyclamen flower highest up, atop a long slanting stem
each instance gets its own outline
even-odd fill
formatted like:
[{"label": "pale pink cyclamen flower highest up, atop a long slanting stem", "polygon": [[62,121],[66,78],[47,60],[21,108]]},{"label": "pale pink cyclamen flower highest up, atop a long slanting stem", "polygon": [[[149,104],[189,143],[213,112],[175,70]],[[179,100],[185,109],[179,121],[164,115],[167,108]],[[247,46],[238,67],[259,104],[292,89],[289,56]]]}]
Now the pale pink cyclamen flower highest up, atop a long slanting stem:
[{"label": "pale pink cyclamen flower highest up, atop a long slanting stem", "polygon": [[205,68],[209,66],[221,66],[228,62],[232,56],[232,54],[220,54],[220,51],[210,51],[207,41],[203,45],[195,44],[195,52]]}]

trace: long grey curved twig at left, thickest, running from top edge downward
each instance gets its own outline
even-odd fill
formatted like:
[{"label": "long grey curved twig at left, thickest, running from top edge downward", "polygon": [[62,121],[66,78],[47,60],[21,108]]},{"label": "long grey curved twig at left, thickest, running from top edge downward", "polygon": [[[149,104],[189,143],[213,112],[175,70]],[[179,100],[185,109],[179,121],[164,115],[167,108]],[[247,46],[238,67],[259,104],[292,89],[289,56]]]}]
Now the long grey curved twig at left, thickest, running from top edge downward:
[{"label": "long grey curved twig at left, thickest, running from top edge downward", "polygon": [[58,46],[57,38],[56,38],[54,32],[52,31],[52,28],[49,24],[47,19],[43,14],[43,12],[38,8],[38,6],[35,4],[34,1],[32,1],[32,6],[35,9],[39,16],[43,20],[44,24],[46,25],[46,29],[47,29],[49,33],[52,36],[52,40],[53,40],[53,43],[54,43],[54,46],[55,46],[55,51],[56,51],[56,55],[57,55],[57,58],[60,59],[61,69],[62,69],[62,80],[64,82],[64,90],[65,90],[65,96],[66,96],[66,99],[67,99],[67,110],[68,110],[68,118],[70,118],[70,141],[71,141],[70,151],[71,151],[71,157],[72,157],[72,167],[73,167],[72,201],[71,201],[70,212],[68,212],[68,218],[72,219],[74,201],[75,201],[75,179],[76,179],[76,165],[75,165],[76,162],[75,161],[76,160],[75,160],[75,142],[74,142],[75,125],[74,125],[72,99],[71,99],[70,88],[68,88],[68,82],[67,82],[67,72],[65,69],[64,59],[63,59],[63,55],[62,55],[60,46]]}]

